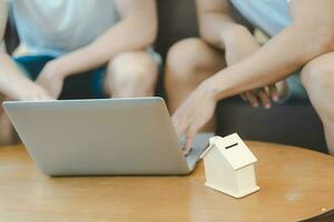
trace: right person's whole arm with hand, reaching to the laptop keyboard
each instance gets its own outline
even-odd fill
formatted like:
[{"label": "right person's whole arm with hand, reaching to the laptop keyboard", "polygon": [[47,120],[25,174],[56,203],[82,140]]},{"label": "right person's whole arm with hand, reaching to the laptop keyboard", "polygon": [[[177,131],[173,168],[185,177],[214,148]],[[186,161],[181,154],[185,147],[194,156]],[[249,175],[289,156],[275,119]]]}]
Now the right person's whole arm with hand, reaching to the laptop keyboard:
[{"label": "right person's whole arm with hand, reaching to the laptop keyboard", "polygon": [[187,149],[213,117],[217,101],[286,78],[313,58],[334,50],[334,1],[293,0],[293,23],[255,53],[207,79],[173,115]]}]

